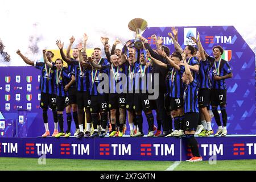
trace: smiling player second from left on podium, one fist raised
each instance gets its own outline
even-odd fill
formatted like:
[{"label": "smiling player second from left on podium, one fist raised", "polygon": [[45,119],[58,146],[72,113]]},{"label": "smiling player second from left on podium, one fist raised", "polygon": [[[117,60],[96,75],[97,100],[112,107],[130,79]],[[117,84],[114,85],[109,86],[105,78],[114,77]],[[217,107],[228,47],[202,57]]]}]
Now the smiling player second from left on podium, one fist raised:
[{"label": "smiling player second from left on podium, one fist raised", "polygon": [[[68,88],[75,82],[75,76],[71,75],[71,73],[68,71],[68,68],[63,67],[63,60],[56,59],[55,64],[53,65],[47,60],[46,57],[46,50],[43,50],[43,58],[44,63],[46,63],[52,70],[54,71],[55,75],[55,84],[57,89],[57,118],[60,126],[60,132],[55,135],[56,138],[59,138],[61,136],[69,137],[71,135],[71,122],[68,122],[68,129],[66,133],[64,133],[63,129],[63,110],[66,106],[68,106]],[[69,81],[71,80],[71,81]]]}]

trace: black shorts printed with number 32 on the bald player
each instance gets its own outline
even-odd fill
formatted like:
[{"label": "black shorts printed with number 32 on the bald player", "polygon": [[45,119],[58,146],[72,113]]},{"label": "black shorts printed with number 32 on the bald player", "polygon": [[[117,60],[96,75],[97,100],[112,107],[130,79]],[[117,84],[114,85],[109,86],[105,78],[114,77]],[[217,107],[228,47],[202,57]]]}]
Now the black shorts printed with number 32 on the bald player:
[{"label": "black shorts printed with number 32 on the bald player", "polygon": [[110,93],[109,94],[109,109],[125,109],[125,94],[123,93]]}]

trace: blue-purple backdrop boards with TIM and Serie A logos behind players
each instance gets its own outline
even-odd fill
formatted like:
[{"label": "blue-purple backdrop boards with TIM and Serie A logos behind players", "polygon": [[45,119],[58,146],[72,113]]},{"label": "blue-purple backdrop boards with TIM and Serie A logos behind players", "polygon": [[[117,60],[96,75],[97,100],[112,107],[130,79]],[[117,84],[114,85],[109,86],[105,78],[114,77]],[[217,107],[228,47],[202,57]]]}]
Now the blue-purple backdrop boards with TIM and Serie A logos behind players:
[{"label": "blue-purple backdrop boards with TIM and Serie A logos behind players", "polygon": [[[226,80],[229,134],[255,134],[255,54],[243,40],[233,26],[204,26],[204,27],[176,27],[178,42],[182,48],[187,44],[194,44],[191,37],[196,38],[200,32],[201,43],[205,51],[212,55],[212,47],[220,45],[224,48],[222,59],[229,61],[233,78]],[[155,43],[151,35],[163,37],[163,44],[175,51],[174,44],[168,36],[171,27],[147,27],[143,36],[148,39],[152,48]],[[55,51],[55,58],[58,57]],[[102,53],[104,56],[104,53]],[[60,57],[60,56],[59,56]],[[27,110],[24,123],[27,123],[27,137],[38,137],[44,133],[42,109],[40,109],[40,70],[34,67],[0,67],[0,121],[14,119],[19,121],[18,110]],[[164,81],[164,80],[160,80]],[[65,118],[65,115],[64,115]],[[143,117],[144,133],[147,133],[146,117]],[[154,112],[154,118],[156,118]],[[53,131],[53,117],[48,110],[49,130]],[[155,125],[156,119],[155,119]],[[6,125],[5,125],[6,126]],[[17,125],[18,126],[18,125]],[[42,127],[40,127],[42,126]],[[64,122],[64,129],[67,127]],[[213,130],[217,130],[216,122],[212,121]],[[7,134],[6,127],[1,127],[0,132]],[[75,125],[72,123],[72,133]],[[129,133],[129,125],[127,124]],[[4,137],[3,135],[2,137]],[[1,135],[0,135],[1,137]]]}]

